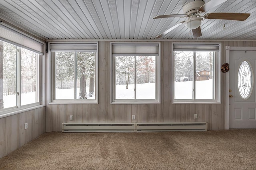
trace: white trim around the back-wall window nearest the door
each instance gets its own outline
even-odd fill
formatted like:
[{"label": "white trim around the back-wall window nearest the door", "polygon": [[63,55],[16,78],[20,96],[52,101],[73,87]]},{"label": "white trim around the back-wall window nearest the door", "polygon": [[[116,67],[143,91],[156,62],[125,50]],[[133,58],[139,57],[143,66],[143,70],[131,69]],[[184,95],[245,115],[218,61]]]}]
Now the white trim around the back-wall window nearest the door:
[{"label": "white trim around the back-wall window nearest the door", "polygon": [[[215,58],[215,81],[214,81],[214,100],[197,99],[197,100],[174,100],[174,44],[196,44],[196,45],[219,45],[219,52]],[[172,104],[221,104],[221,59],[222,59],[221,43],[172,43]]]}]

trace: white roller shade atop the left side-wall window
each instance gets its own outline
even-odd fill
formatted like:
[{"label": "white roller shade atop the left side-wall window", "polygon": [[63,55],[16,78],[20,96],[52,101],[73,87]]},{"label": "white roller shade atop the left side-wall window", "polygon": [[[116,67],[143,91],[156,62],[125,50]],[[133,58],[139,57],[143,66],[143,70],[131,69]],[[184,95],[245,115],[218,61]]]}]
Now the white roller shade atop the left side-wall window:
[{"label": "white roller shade atop the left side-wall window", "polygon": [[40,43],[39,41],[27,37],[26,35],[5,27],[4,25],[0,25],[0,40],[16,45],[18,47],[22,47],[24,49],[28,49],[30,51],[34,51],[41,55],[43,55],[44,52],[43,43]]}]

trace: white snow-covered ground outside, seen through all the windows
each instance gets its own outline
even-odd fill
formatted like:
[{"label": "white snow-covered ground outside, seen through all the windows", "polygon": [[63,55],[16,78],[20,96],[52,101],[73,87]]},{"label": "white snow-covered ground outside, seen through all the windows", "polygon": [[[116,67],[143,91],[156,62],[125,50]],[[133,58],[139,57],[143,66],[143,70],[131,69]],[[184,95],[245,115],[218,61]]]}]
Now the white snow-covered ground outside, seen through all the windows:
[{"label": "white snow-covered ground outside, seen through all the windows", "polygon": [[[175,99],[192,99],[193,82],[174,82]],[[204,81],[196,81],[196,99],[212,99],[212,79]],[[155,83],[137,84],[137,99],[154,99],[155,98]],[[89,91],[89,88],[86,88]],[[58,99],[72,99],[73,89],[56,89]],[[77,88],[77,95],[79,88]],[[94,96],[88,99],[94,99]],[[134,99],[134,84],[116,85],[116,99]],[[36,93],[22,94],[22,105],[31,104],[36,101]],[[16,95],[4,96],[4,108],[16,106]]]}]

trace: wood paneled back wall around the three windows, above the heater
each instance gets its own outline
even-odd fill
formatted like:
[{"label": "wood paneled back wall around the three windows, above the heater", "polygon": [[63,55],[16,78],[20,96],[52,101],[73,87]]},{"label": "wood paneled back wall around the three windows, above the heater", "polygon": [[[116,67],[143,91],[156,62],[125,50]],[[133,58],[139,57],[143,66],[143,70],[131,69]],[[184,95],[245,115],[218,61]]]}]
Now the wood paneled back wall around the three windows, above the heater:
[{"label": "wood paneled back wall around the three windows, above the heater", "polygon": [[[99,41],[99,104],[47,105],[46,131],[61,131],[62,123],[69,122],[69,115],[73,115],[72,122],[206,121],[208,130],[225,129],[225,73],[221,74],[222,104],[171,103],[172,42],[161,42],[161,104],[110,104],[110,41]],[[214,42],[222,43],[221,63],[226,61],[226,45],[256,46],[254,41]],[[197,120],[194,119],[195,113],[198,114]],[[132,120],[132,115],[136,115],[136,120]]]}]

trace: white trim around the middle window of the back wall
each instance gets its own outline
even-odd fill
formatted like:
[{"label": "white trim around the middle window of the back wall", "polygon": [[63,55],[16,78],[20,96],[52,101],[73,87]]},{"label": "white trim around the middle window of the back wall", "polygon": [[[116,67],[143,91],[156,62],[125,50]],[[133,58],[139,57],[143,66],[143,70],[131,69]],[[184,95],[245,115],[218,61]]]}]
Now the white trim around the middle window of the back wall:
[{"label": "white trim around the middle window of the back wall", "polygon": [[[159,46],[159,57],[156,59],[156,100],[152,99],[117,99],[114,100],[114,86],[115,86],[115,78],[114,78],[114,60],[112,54],[112,45],[113,44],[158,44]],[[110,104],[161,104],[161,43],[110,43]]]}]

